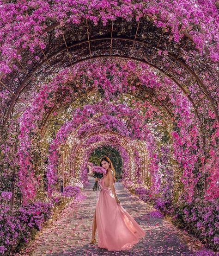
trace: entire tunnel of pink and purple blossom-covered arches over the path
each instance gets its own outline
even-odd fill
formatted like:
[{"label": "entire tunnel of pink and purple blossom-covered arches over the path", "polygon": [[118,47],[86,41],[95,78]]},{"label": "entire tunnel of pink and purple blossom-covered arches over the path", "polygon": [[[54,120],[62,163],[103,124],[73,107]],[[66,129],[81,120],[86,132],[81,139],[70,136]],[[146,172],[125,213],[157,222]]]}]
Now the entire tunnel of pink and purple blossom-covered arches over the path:
[{"label": "entire tunnel of pink and purple blossom-covered arches over the path", "polygon": [[197,1],[199,12],[172,1],[37,2],[0,6],[1,200],[16,208],[49,200],[61,180],[87,186],[105,147],[118,152],[119,181],[165,211],[197,200],[216,207],[214,2]]}]

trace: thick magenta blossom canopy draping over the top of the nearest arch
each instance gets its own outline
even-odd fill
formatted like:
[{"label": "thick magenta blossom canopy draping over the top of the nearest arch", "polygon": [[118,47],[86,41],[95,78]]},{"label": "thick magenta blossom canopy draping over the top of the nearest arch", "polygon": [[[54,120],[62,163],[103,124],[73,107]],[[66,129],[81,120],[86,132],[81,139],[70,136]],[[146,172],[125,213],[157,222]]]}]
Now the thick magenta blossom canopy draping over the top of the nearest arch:
[{"label": "thick magenta blossom canopy draping over the top of the nearest arch", "polygon": [[[0,70],[11,72],[6,64],[10,58],[21,60],[20,51],[26,47],[31,52],[35,48],[45,49],[42,38],[48,36],[47,26],[57,23],[55,36],[63,34],[69,23],[80,24],[84,19],[103,25],[109,20],[122,18],[130,20],[135,16],[138,21],[150,19],[157,27],[170,31],[170,40],[179,42],[184,35],[193,40],[200,53],[207,51],[214,61],[219,59],[218,45],[218,13],[214,1],[109,1],[101,3],[97,0],[85,0],[80,5],[70,0],[50,3],[44,0],[4,3],[0,6],[1,56]],[[49,24],[49,25],[48,25]],[[43,37],[42,37],[43,35]],[[206,41],[207,38],[207,41]],[[13,45],[12,43],[13,42]],[[206,48],[208,48],[206,50]],[[36,56],[36,59],[39,57]],[[16,65],[14,65],[16,68]],[[142,77],[144,79],[144,77]]]}]

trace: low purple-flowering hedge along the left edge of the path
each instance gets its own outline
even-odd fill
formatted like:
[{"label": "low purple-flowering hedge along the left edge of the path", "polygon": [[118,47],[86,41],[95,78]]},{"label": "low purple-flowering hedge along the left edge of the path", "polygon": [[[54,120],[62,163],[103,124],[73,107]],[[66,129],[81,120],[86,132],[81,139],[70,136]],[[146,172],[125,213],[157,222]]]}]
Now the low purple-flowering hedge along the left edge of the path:
[{"label": "low purple-flowering hedge along the left edge of the path", "polygon": [[51,217],[62,198],[71,198],[76,203],[85,196],[81,194],[79,186],[66,186],[63,194],[53,193],[49,203],[36,201],[12,210],[7,205],[0,205],[0,254],[9,255],[20,243],[27,243],[31,232],[42,229],[43,223]]}]

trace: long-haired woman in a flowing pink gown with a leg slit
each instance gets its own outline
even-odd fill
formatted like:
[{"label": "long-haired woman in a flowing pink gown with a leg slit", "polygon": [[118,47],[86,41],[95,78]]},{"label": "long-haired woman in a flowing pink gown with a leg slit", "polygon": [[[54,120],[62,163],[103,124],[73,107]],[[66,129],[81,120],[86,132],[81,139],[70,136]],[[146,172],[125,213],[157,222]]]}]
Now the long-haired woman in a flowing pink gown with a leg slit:
[{"label": "long-haired woman in a flowing pink gown with a leg slit", "polygon": [[138,243],[139,238],[144,237],[146,232],[120,205],[114,186],[116,172],[110,159],[104,156],[100,166],[105,168],[107,173],[102,179],[95,178],[100,186],[100,193],[93,218],[90,244],[97,243],[97,230],[97,247],[110,251],[128,250]]}]

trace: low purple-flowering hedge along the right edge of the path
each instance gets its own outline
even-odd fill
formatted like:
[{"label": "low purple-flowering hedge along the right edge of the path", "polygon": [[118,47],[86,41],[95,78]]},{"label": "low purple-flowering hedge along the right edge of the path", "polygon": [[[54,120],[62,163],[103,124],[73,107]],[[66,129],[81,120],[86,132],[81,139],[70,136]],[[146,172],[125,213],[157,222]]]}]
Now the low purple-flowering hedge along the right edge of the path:
[{"label": "low purple-flowering hedge along the right edge of the path", "polygon": [[150,194],[148,189],[137,187],[135,184],[129,184],[128,189],[137,194],[141,200],[158,209],[158,211],[152,212],[153,217],[171,216],[178,227],[189,230],[203,243],[207,243],[210,248],[217,250],[219,244],[218,200],[197,198],[192,203],[185,200],[174,203],[165,199],[163,195]]}]

